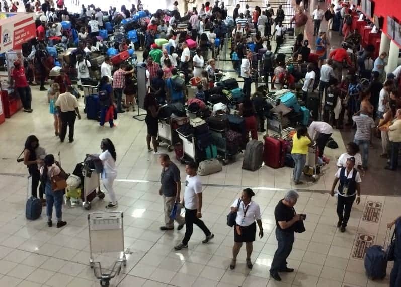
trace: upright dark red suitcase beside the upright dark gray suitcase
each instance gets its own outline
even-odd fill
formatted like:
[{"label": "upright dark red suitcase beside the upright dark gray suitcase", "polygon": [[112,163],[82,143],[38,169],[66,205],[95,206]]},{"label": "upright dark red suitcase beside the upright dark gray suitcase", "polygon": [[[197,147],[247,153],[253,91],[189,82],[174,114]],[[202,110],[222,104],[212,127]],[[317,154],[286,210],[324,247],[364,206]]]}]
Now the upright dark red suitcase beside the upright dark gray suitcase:
[{"label": "upright dark red suitcase beside the upright dark gray suitcase", "polygon": [[267,166],[273,168],[283,167],[285,162],[284,140],[266,137],[263,148],[263,161]]}]

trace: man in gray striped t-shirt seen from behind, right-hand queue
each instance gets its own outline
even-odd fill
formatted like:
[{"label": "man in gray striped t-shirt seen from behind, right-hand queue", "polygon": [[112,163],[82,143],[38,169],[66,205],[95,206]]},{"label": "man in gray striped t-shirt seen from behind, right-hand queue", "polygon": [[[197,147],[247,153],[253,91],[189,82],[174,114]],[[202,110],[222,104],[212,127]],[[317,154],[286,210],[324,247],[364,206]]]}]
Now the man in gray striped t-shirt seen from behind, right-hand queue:
[{"label": "man in gray striped t-shirt seen from behind, right-hand queue", "polygon": [[369,116],[366,108],[362,108],[359,115],[353,116],[352,120],[356,123],[354,143],[359,145],[362,155],[362,167],[366,170],[368,167],[369,146],[372,142],[373,129],[375,128],[374,120]]}]

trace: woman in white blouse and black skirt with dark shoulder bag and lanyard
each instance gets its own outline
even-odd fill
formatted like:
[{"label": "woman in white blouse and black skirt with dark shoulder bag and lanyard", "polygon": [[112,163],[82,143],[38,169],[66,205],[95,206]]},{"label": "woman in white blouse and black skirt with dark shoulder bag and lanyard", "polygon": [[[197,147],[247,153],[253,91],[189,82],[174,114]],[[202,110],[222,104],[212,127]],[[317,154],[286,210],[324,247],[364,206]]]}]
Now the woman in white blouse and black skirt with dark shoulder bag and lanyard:
[{"label": "woman in white blouse and black skirt with dark shoulder bag and lanyard", "polygon": [[232,260],[230,264],[231,270],[235,268],[236,257],[243,242],[245,242],[247,246],[247,266],[249,269],[252,269],[251,254],[253,242],[256,237],[256,223],[258,223],[259,226],[259,237],[263,237],[260,208],[256,202],[252,201],[254,195],[255,193],[251,188],[246,188],[243,190],[241,198],[236,199],[231,205],[231,212],[237,213],[234,225],[234,246],[232,247]]}]

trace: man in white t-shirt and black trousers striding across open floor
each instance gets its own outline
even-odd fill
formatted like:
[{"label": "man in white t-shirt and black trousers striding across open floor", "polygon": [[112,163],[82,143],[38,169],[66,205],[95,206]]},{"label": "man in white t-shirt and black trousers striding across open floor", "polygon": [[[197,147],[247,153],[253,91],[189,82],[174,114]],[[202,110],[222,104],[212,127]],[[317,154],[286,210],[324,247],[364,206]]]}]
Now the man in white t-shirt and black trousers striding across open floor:
[{"label": "man in white t-shirt and black trousers striding across open floor", "polygon": [[214,234],[210,232],[205,223],[200,220],[202,217],[202,182],[196,174],[196,169],[196,163],[193,161],[189,161],[185,165],[187,178],[185,179],[185,192],[182,204],[185,207],[186,230],[184,239],[174,247],[175,250],[188,248],[188,241],[191,238],[194,223],[205,233],[206,238],[202,243],[207,243],[214,237]]}]

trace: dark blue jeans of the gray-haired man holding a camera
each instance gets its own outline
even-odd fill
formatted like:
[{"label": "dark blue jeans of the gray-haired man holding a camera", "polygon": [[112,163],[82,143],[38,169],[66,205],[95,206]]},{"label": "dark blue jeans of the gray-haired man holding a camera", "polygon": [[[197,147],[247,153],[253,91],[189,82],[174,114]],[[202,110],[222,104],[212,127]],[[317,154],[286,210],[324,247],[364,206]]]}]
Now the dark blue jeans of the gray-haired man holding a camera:
[{"label": "dark blue jeans of the gray-haired man holding a camera", "polygon": [[280,272],[287,267],[287,258],[294,244],[294,232],[285,232],[276,227],[277,250],[274,253],[270,273]]}]

